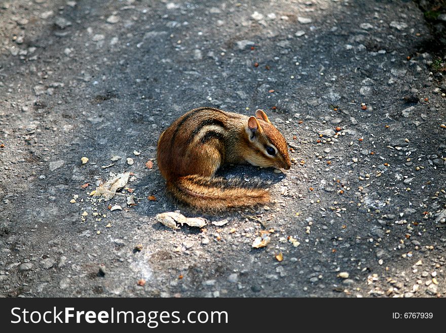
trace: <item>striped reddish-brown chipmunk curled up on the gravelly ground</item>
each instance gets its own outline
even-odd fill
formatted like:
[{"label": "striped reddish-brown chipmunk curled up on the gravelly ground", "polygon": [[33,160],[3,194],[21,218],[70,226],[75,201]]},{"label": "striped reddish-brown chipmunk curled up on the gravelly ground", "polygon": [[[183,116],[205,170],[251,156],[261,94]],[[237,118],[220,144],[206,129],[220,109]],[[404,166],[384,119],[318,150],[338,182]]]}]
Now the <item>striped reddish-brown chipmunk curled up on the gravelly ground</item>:
[{"label": "striped reddish-brown chipmunk curled up on the gravelly ground", "polygon": [[286,140],[263,110],[247,117],[210,107],[189,111],[161,134],[157,162],[167,190],[202,210],[269,202],[269,192],[256,188],[258,183],[214,177],[223,164],[291,167]]}]

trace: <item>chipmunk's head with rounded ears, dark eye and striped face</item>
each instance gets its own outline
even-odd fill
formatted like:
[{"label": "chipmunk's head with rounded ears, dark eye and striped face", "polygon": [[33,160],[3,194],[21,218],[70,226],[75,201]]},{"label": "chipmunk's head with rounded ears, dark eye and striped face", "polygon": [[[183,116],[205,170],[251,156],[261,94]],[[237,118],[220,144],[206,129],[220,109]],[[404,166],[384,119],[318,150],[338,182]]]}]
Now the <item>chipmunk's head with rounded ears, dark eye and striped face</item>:
[{"label": "chipmunk's head with rounded ears, dark eye and striped face", "polygon": [[286,140],[271,124],[265,112],[257,110],[255,117],[248,119],[245,132],[250,148],[245,155],[247,162],[277,169],[288,170],[291,167]]}]

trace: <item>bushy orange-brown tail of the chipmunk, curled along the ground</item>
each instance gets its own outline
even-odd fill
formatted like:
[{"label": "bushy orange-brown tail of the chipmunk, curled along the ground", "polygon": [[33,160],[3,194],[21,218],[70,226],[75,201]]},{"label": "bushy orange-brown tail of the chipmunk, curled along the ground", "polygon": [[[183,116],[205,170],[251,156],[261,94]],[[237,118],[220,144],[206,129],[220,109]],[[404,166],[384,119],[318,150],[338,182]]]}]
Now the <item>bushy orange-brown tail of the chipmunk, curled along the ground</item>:
[{"label": "bushy orange-brown tail of the chipmunk, curled along the ground", "polygon": [[270,193],[259,182],[199,175],[178,177],[167,182],[167,189],[180,202],[204,209],[228,209],[269,202]]}]

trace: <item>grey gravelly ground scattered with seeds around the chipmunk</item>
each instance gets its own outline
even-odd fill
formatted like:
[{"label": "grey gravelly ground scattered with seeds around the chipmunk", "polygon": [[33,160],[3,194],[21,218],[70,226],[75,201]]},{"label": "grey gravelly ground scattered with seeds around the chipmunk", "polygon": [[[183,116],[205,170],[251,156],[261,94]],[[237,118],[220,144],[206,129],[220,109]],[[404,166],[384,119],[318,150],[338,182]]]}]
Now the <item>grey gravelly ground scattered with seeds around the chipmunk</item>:
[{"label": "grey gravelly ground scattered with seeds around the chipmunk", "polygon": [[[0,7],[0,295],[445,296],[446,80],[417,4]],[[166,196],[157,139],[199,106],[266,111],[292,168],[221,173],[275,202],[210,215]],[[124,171],[136,205],[89,195]],[[155,218],[176,209],[209,225]]]}]

